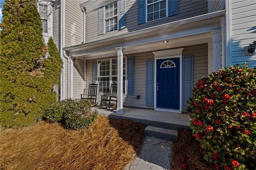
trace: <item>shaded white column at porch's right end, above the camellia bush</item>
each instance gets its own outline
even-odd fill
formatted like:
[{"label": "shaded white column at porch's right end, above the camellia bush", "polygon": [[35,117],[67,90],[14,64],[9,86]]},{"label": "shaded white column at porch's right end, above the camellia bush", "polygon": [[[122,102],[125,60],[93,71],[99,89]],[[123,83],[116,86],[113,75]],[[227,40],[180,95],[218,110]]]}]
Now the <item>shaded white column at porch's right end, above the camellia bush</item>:
[{"label": "shaded white column at porch's right end, above the camellia bush", "polygon": [[213,30],[212,36],[212,51],[213,51],[213,71],[218,71],[222,68],[222,57],[221,57],[221,30]]}]

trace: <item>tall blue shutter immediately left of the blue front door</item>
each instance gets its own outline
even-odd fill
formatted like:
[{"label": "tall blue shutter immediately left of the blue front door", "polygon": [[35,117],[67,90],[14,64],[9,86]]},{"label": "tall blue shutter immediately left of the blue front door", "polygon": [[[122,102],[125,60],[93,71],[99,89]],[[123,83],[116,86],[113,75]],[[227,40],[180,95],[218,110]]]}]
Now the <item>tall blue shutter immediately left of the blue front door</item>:
[{"label": "tall blue shutter immediately left of the blue front door", "polygon": [[154,106],[154,59],[146,61],[146,106]]}]

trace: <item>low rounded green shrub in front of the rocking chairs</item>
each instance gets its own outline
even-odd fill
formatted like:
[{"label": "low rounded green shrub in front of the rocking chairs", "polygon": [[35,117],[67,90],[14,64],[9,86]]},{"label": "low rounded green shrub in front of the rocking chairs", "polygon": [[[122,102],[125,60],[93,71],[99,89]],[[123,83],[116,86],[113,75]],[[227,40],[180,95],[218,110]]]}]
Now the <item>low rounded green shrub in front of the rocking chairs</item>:
[{"label": "low rounded green shrub in front of the rocking chairs", "polygon": [[79,130],[91,125],[97,115],[98,111],[92,111],[90,101],[65,99],[46,110],[44,119],[49,123],[63,121],[66,128]]}]

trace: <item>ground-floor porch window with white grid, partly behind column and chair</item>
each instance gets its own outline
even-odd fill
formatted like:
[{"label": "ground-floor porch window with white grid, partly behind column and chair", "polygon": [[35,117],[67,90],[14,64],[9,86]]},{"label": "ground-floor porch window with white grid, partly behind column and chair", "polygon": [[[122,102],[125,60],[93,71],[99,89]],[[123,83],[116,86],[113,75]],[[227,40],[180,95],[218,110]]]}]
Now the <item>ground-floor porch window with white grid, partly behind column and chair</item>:
[{"label": "ground-floor porch window with white grid, partly behind column and chair", "polygon": [[[110,85],[117,83],[117,58],[98,60],[99,93],[108,93]],[[123,93],[126,91],[126,58],[123,59]]]}]

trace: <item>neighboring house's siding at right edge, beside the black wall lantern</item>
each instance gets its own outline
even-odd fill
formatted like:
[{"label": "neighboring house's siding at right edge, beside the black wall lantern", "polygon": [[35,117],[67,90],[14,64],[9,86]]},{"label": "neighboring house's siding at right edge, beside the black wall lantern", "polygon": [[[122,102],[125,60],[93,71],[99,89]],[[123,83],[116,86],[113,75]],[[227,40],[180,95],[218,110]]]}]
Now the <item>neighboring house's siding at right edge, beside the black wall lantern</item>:
[{"label": "neighboring house's siding at right edge, beside the black wall lantern", "polygon": [[256,40],[256,1],[231,1],[230,14],[231,65],[256,67],[256,55],[245,55],[245,47]]}]

